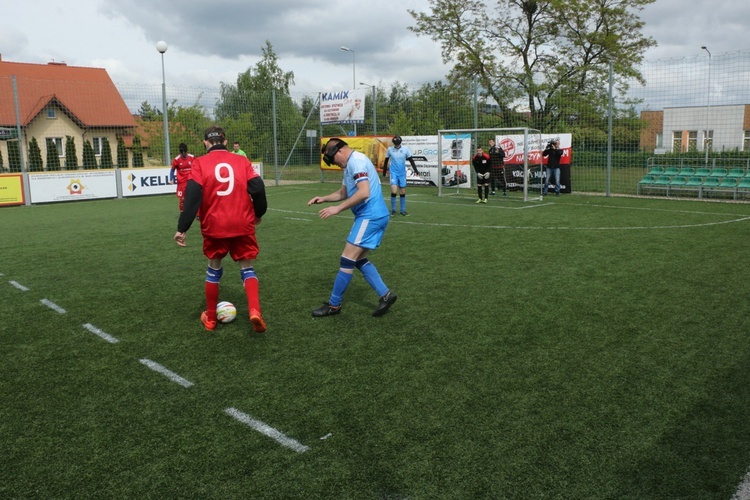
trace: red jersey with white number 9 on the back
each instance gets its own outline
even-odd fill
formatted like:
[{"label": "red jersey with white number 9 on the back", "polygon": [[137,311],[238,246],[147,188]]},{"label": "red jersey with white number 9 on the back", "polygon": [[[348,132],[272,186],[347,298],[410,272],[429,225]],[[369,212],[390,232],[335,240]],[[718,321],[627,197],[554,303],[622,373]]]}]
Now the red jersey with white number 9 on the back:
[{"label": "red jersey with white number 9 on the back", "polygon": [[201,233],[211,238],[255,234],[255,208],[247,192],[259,177],[250,160],[226,149],[214,149],[193,160],[189,179],[201,185]]}]

